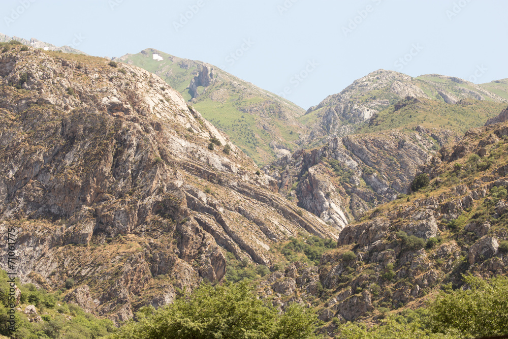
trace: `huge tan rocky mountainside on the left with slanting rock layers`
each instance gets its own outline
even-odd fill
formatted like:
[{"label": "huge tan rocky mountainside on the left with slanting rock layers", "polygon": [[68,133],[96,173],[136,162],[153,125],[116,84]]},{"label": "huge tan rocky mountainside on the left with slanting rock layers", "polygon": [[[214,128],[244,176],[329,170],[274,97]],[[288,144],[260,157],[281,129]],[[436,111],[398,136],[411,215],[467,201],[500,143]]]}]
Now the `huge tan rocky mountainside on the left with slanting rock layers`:
[{"label": "huge tan rocky mountainside on the left with slanting rock layers", "polygon": [[337,238],[151,73],[15,47],[0,77],[0,230],[24,282],[72,278],[69,300],[119,322],[220,280],[227,252],[270,265],[298,232]]}]

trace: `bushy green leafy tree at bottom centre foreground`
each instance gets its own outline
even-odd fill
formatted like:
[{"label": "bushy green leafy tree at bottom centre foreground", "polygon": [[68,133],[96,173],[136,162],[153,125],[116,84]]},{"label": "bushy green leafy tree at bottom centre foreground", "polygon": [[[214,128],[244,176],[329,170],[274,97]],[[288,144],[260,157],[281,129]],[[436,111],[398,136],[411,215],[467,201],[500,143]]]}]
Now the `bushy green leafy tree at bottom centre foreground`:
[{"label": "bushy green leafy tree at bottom centre foreground", "polygon": [[202,285],[161,309],[144,307],[137,318],[110,338],[305,339],[317,338],[318,325],[314,311],[296,303],[279,315],[248,282]]}]

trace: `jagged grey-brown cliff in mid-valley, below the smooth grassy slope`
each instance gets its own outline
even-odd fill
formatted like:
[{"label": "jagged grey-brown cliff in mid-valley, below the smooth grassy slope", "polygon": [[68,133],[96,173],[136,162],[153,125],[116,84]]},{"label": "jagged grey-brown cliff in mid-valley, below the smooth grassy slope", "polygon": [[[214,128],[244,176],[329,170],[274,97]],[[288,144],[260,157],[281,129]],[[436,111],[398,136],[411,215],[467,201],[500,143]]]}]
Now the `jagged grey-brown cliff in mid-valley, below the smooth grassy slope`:
[{"label": "jagged grey-brown cliff in mid-valley, below the smooth grassy slope", "polygon": [[[420,167],[435,153],[436,139],[453,134],[425,129],[356,134],[286,156],[265,173],[279,192],[323,221],[345,227],[373,206],[408,194]],[[453,138],[452,138],[453,139]]]}]

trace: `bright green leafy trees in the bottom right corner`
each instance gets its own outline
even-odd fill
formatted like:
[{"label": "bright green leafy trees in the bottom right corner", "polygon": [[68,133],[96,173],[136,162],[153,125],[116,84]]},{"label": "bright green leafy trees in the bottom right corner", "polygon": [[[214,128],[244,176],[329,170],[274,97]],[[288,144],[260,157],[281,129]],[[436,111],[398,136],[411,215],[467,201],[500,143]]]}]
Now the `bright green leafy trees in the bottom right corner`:
[{"label": "bright green leafy trees in the bottom right corner", "polygon": [[359,323],[346,323],[336,338],[347,339],[462,339],[500,336],[508,333],[508,278],[483,280],[464,276],[466,289],[444,286],[425,308],[392,315],[367,329]]}]

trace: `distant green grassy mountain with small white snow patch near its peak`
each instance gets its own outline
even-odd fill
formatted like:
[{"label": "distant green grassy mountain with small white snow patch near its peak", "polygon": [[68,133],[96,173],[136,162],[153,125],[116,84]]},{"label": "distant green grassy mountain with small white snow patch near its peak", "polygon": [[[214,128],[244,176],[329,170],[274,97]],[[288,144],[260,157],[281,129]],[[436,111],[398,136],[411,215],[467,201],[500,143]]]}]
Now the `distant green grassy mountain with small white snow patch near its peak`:
[{"label": "distant green grassy mountain with small white snow patch near its peak", "polygon": [[152,48],[114,60],[163,78],[258,164],[291,153],[306,136],[301,107],[210,64]]}]

